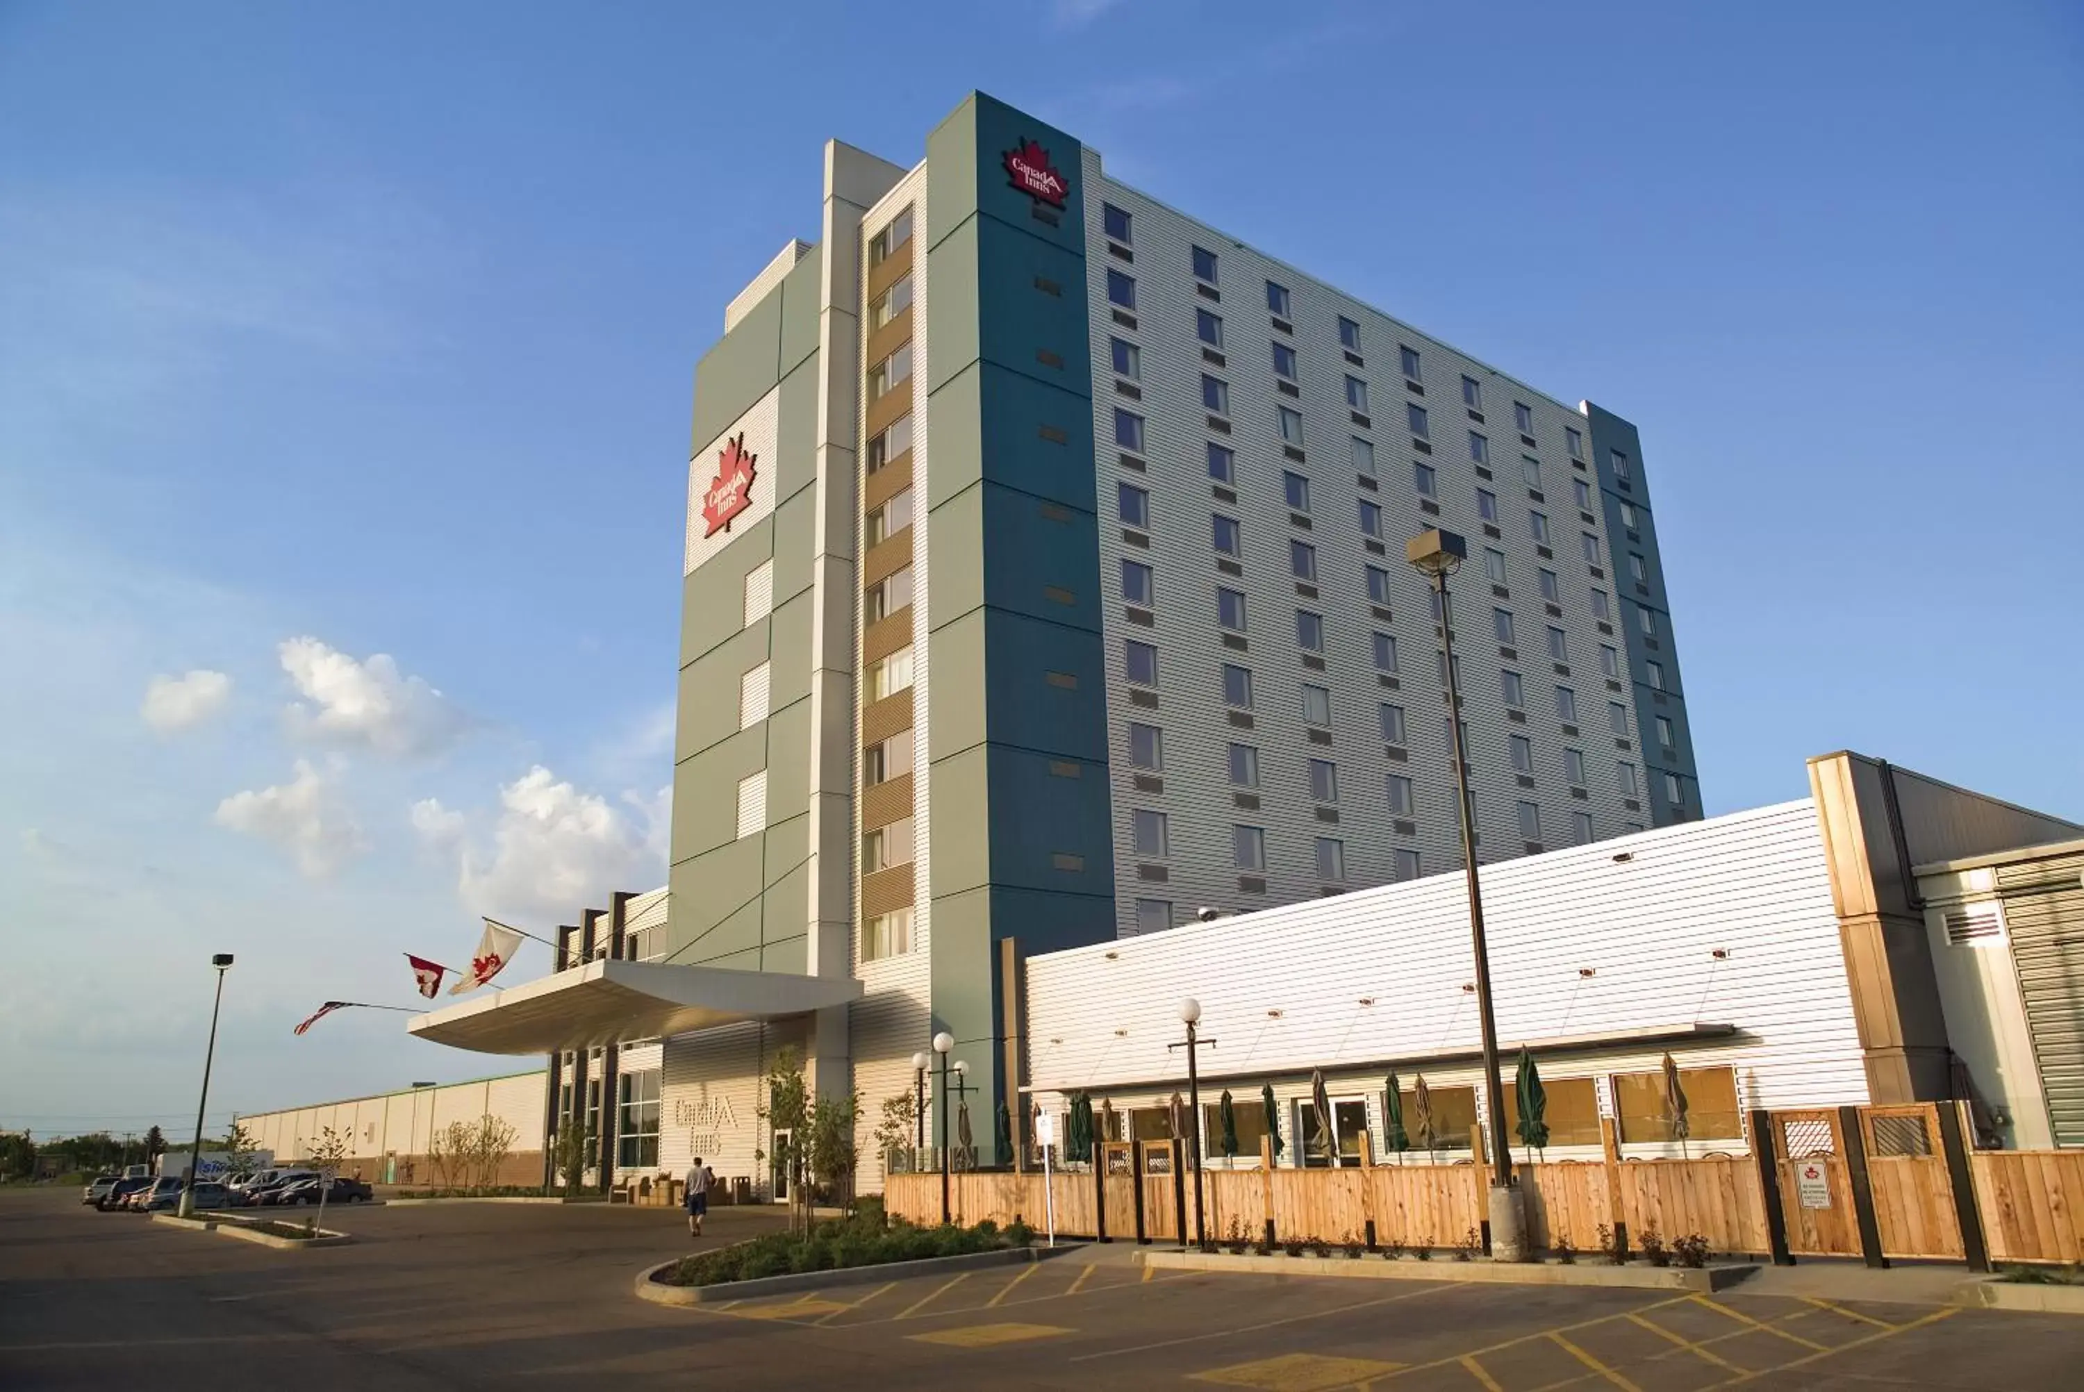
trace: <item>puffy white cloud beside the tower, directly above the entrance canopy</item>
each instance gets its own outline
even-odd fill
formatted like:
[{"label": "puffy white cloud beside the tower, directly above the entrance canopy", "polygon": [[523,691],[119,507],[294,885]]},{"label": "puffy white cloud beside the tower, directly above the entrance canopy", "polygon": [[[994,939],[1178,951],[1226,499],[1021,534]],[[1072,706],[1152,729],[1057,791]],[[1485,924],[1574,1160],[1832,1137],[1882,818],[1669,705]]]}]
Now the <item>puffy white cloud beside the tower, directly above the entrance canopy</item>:
[{"label": "puffy white cloud beside the tower, directly above the entrance canopy", "polygon": [[[413,829],[456,859],[456,894],[473,913],[569,919],[602,906],[611,890],[650,890],[665,877],[671,792],[623,794],[615,806],[536,765],[500,788],[486,838],[438,798],[413,804]],[[490,842],[490,844],[486,844]]]}]

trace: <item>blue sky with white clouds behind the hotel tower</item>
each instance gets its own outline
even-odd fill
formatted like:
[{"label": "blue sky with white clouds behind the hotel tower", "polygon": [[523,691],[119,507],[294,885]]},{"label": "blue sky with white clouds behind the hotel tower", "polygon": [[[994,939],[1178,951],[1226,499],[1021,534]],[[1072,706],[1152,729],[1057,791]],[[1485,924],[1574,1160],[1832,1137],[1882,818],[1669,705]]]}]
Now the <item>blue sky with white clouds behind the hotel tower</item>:
[{"label": "blue sky with white clouds behind the hotel tower", "polygon": [[1634,419],[1711,813],[2084,819],[2074,6],[15,0],[0,1125],[190,1125],[213,950],[213,1117],[502,1071],[290,1025],[663,881],[694,361],[969,88]]}]

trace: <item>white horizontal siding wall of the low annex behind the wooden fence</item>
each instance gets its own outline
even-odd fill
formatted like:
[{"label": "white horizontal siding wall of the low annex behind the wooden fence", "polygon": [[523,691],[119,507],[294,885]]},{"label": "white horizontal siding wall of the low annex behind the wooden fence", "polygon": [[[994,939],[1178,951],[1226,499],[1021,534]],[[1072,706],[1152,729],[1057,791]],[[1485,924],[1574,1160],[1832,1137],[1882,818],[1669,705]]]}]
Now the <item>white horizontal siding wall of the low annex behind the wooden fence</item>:
[{"label": "white horizontal siding wall of the low annex behind the wooden fence", "polygon": [[[1736,1038],[1678,1054],[1732,1065],[1742,1107],[1867,1100],[1811,802],[1492,865],[1482,886],[1507,1067],[1523,1040],[1726,1023]],[[1388,1067],[1409,1086],[1407,1061],[1475,1050],[1467,981],[1459,875],[1050,952],[1027,961],[1029,1077],[1046,1109],[1080,1088],[1117,1111],[1169,1096],[1186,1077],[1167,1044],[1192,994],[1217,1040],[1202,1054],[1205,1100],[1223,1086],[1257,1096],[1265,1075],[1292,1098],[1321,1067],[1334,1094],[1369,1094],[1380,1142]],[[1542,1071],[1605,1077],[1655,1069],[1659,1054],[1580,1054]],[[1473,1084],[1480,1069],[1425,1077]],[[1605,1084],[1601,1107],[1611,1111]],[[1292,1113],[1284,1136],[1288,1125]]]}]

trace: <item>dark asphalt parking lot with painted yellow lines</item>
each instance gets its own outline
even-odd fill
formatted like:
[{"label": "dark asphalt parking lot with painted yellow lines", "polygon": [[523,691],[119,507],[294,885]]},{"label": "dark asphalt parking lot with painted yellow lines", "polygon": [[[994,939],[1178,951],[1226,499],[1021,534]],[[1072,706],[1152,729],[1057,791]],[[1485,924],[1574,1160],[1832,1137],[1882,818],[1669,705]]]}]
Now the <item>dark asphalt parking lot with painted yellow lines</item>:
[{"label": "dark asphalt parking lot with painted yellow lines", "polygon": [[[711,1242],[775,1215],[721,1211]],[[0,1194],[0,1386],[2074,1388],[2084,1319],[1942,1304],[1311,1282],[1146,1269],[1130,1248],[667,1309],[636,1271],[673,1211],[363,1209],[275,1252],[67,1194]]]}]

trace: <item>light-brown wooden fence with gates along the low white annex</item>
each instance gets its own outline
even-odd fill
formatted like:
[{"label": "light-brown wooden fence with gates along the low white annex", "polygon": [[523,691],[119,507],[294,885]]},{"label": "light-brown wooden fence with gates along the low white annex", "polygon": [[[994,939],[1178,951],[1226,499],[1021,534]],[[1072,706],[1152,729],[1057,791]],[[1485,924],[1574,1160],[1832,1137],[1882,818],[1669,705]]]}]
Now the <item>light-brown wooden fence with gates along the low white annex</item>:
[{"label": "light-brown wooden fence with gates along the low white annex", "polygon": [[[1748,1154],[1513,1165],[1536,1248],[1698,1234],[1717,1252],[1967,1261],[2084,1261],[2084,1150],[1967,1150],[1957,1102],[1755,1111]],[[1192,1240],[1194,1175],[1180,1142],[1105,1142],[1098,1163],[1052,1177],[1057,1232],[1080,1238]],[[1271,1159],[1271,1157],[1263,1157]],[[1359,1240],[1371,1246],[1488,1244],[1490,1167],[1461,1161],[1344,1169],[1205,1169],[1211,1242]],[[890,1175],[894,1217],[938,1223],[942,1177]],[[948,1177],[957,1223],[1015,1217],[1044,1225],[1040,1173]],[[1605,1234],[1603,1234],[1605,1229]]]}]

